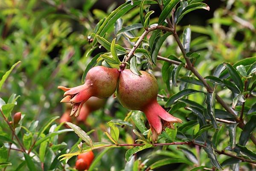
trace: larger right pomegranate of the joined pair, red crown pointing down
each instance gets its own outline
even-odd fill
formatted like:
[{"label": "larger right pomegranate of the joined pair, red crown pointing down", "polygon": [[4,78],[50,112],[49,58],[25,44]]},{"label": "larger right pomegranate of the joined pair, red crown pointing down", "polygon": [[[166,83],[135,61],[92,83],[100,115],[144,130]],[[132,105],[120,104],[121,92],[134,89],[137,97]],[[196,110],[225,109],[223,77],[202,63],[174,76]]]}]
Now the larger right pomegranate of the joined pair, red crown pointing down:
[{"label": "larger right pomegranate of the joined pair, red crown pointing down", "polygon": [[135,75],[131,70],[122,70],[119,76],[117,97],[121,104],[130,110],[140,110],[145,113],[152,131],[152,140],[165,127],[174,128],[173,123],[182,122],[166,112],[157,103],[158,84],[156,78],[145,71],[142,75]]}]

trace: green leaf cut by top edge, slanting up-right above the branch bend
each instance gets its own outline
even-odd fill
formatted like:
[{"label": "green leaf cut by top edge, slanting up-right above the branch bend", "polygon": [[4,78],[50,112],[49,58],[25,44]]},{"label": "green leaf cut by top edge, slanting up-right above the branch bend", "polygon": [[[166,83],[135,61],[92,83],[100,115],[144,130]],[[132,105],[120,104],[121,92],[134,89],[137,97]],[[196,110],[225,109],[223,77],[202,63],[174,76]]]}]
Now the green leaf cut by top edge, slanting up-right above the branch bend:
[{"label": "green leaf cut by top edge, slanting up-right above the branch bend", "polygon": [[167,0],[164,4],[163,11],[161,12],[159,19],[158,19],[158,25],[162,25],[164,20],[169,16],[169,14],[172,12],[172,9],[179,3],[180,0]]}]

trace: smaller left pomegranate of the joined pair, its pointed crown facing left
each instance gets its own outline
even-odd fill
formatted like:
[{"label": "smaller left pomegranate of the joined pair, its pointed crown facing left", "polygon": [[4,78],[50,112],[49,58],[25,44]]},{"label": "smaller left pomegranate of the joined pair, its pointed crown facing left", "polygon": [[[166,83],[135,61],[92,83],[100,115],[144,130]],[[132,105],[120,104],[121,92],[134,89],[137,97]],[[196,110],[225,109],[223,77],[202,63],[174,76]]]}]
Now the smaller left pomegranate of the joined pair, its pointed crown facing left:
[{"label": "smaller left pomegranate of the joined pair, its pointed crown facing left", "polygon": [[116,68],[97,66],[88,71],[83,85],[73,88],[58,86],[59,89],[65,91],[61,102],[73,105],[70,116],[79,116],[84,102],[92,96],[98,98],[111,96],[116,90],[119,74]]}]

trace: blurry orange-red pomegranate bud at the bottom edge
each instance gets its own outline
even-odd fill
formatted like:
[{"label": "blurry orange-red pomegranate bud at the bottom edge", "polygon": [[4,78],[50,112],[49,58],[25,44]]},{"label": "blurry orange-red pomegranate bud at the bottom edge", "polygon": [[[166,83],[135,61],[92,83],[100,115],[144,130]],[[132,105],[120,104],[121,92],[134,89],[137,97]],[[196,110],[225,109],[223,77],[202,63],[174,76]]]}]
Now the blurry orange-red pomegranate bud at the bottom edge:
[{"label": "blurry orange-red pomegranate bud at the bottom edge", "polygon": [[94,159],[94,154],[92,151],[79,154],[76,160],[76,169],[78,171],[87,170],[90,167],[91,163],[93,162],[93,159]]}]

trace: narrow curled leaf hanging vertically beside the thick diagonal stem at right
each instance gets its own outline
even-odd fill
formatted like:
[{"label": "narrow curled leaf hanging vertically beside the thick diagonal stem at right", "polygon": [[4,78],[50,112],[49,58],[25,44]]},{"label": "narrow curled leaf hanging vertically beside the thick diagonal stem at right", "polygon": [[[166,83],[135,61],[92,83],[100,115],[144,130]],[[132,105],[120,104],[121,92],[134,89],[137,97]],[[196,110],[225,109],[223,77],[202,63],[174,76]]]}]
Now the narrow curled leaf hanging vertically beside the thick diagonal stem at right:
[{"label": "narrow curled leaf hanging vertically beside the thick diagonal stem at right", "polygon": [[212,125],[215,129],[218,129],[218,124],[215,119],[215,93],[205,93],[205,104],[207,105],[207,114],[211,119]]}]

